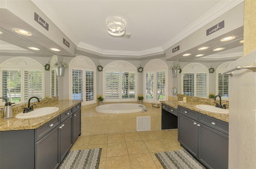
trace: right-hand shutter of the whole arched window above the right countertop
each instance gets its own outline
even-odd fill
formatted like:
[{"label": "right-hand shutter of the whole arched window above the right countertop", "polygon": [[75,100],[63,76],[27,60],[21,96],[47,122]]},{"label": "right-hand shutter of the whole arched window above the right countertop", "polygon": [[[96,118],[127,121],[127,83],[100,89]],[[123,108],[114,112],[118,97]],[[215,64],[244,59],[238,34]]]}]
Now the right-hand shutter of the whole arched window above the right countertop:
[{"label": "right-hand shutter of the whole arched window above the right countertop", "polygon": [[196,97],[207,97],[207,74],[196,74]]}]

